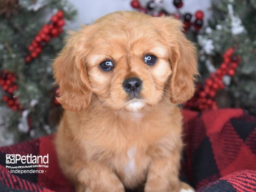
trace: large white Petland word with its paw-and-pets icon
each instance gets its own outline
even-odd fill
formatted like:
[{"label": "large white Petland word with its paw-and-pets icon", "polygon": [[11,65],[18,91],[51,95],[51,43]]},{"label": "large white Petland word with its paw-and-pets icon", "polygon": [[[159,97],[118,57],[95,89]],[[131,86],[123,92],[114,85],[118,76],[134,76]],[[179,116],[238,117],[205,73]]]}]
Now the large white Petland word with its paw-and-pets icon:
[{"label": "large white Petland word with its paw-and-pets icon", "polygon": [[6,164],[17,164],[18,162],[22,164],[48,164],[49,154],[47,155],[20,155],[20,154],[6,154]]}]

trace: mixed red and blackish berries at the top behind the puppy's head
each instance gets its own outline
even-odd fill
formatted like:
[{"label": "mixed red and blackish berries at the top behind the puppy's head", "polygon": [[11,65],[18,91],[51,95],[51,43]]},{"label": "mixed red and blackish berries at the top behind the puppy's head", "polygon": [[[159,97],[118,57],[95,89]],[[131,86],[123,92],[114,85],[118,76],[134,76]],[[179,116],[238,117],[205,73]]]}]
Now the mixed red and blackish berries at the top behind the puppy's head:
[{"label": "mixed red and blackish berries at the top behind the puppy's head", "polygon": [[[180,9],[183,6],[183,1],[182,0],[173,0],[173,4],[177,9]],[[191,13],[185,13],[184,15],[182,15],[180,13],[180,11],[178,11],[178,14],[177,13],[175,13],[175,14],[169,13],[163,8],[163,4],[159,0],[158,1],[156,1],[156,0],[149,1],[145,8],[140,5],[139,0],[132,0],[131,6],[140,12],[144,12],[146,14],[151,14],[154,17],[160,17],[162,15],[172,15],[173,17],[178,18],[178,19],[182,18],[184,28],[186,30],[189,29],[191,26],[194,26],[194,28],[198,31],[202,28],[203,23],[204,23],[204,12],[202,12],[201,10],[195,12],[195,20],[194,20],[194,22],[191,22],[191,20],[192,20]],[[155,9],[158,10],[157,14],[154,12]]]}]

